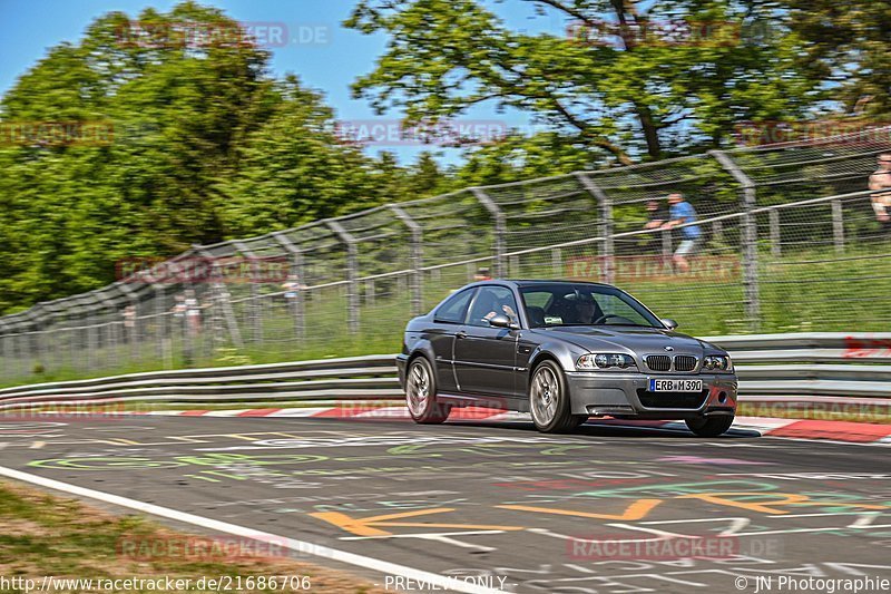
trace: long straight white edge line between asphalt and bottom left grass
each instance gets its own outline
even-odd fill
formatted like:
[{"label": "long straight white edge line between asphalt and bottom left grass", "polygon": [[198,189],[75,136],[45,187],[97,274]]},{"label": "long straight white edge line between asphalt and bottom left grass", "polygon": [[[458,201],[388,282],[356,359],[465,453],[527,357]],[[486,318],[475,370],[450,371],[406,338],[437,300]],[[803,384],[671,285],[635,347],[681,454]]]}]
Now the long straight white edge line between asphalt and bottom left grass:
[{"label": "long straight white edge line between asphalt and bottom left grass", "polygon": [[501,590],[483,587],[476,584],[466,583],[463,581],[456,578],[448,578],[439,574],[424,572],[421,569],[414,569],[413,567],[398,565],[395,563],[390,563],[388,561],[365,557],[363,555],[356,555],[354,553],[347,553],[345,551],[337,551],[335,548],[316,545],[314,543],[309,543],[306,541],[297,541],[285,536],[278,536],[272,533],[255,530],[253,528],[238,526],[236,524],[228,524],[226,522],[219,522],[217,519],[196,516],[194,514],[187,514],[185,512],[178,512],[176,509],[170,509],[168,507],[147,504],[145,502],[130,499],[128,497],[121,497],[119,495],[112,495],[110,493],[102,493],[99,490],[88,489],[85,487],[78,487],[77,485],[70,485],[68,483],[62,483],[60,480],[53,480],[51,478],[45,478],[41,476],[22,473],[20,470],[7,468],[4,466],[0,466],[0,476],[11,478],[14,480],[21,480],[23,483],[31,483],[33,485],[39,485],[41,487],[59,490],[62,493],[68,493],[71,495],[77,495],[80,497],[97,499],[106,504],[127,507],[129,509],[136,509],[138,512],[143,512],[144,514],[150,514],[153,516],[164,517],[167,519],[182,522],[184,524],[190,524],[193,526],[199,526],[202,528],[206,528],[218,533],[232,534],[245,538],[253,538],[264,543],[273,542],[276,544],[281,544],[286,548],[290,548],[291,551],[306,553],[310,555],[315,555],[316,557],[327,558],[340,563],[346,563],[349,565],[355,565],[358,567],[364,567],[366,569],[372,569],[382,573],[384,575],[401,575],[411,580],[425,582],[429,585],[437,585],[443,590],[451,590],[454,592],[467,592],[470,594],[503,593],[503,591]]}]

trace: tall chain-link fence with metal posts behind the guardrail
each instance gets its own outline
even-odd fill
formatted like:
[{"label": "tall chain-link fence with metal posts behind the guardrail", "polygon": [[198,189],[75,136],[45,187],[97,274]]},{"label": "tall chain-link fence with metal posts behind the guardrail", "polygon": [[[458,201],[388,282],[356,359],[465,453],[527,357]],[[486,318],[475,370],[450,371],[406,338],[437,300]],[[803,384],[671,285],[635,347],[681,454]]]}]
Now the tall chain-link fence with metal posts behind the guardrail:
[{"label": "tall chain-link fence with metal posts behind the guardrail", "polygon": [[[124,263],[107,288],[0,318],[0,381],[394,352],[409,318],[487,276],[614,283],[691,333],[887,330],[891,227],[866,188],[889,149],[891,128],[713,152]],[[670,193],[695,225],[659,226]]]}]

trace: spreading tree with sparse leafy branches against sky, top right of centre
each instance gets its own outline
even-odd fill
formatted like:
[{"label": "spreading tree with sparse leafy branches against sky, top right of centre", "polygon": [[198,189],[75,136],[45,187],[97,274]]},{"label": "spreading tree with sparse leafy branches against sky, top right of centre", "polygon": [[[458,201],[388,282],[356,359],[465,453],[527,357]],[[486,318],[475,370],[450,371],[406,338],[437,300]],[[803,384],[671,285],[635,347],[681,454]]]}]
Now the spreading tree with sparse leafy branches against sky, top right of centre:
[{"label": "spreading tree with sparse leafy branches against sky, top right of centre", "polygon": [[[815,100],[814,82],[795,69],[794,36],[751,43],[738,35],[773,18],[761,2],[657,0],[646,12],[623,0],[528,3],[582,33],[512,30],[474,0],[361,0],[346,26],[385,32],[389,43],[354,95],[379,111],[404,108],[409,123],[487,103],[519,109],[621,163],[719,146],[734,123],[801,114]],[[652,32],[668,21],[722,27],[670,43]],[[614,42],[591,39],[604,27]]]}]

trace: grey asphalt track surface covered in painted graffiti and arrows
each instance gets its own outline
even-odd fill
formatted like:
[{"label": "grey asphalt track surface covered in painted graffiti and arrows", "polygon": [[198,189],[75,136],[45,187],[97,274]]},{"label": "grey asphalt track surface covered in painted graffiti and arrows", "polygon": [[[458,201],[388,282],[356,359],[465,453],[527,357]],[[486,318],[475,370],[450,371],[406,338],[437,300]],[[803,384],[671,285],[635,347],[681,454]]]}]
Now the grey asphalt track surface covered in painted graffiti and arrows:
[{"label": "grey asphalt track surface covered in painted graffiti and arrows", "polygon": [[[0,465],[510,592],[891,578],[882,446],[590,423],[544,436],[528,422],[46,417],[0,419]],[[712,548],[691,555],[694,542]]]}]

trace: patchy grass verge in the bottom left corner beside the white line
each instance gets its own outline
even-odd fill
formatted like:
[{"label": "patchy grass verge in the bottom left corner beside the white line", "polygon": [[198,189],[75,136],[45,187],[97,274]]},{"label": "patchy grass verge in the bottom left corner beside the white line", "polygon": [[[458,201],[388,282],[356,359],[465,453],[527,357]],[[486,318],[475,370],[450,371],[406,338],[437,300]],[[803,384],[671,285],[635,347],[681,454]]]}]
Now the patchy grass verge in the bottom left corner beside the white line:
[{"label": "patchy grass verge in the bottom left corner beside the white line", "polygon": [[[190,578],[307,576],[309,592],[380,593],[347,574],[281,556],[273,544],[253,546],[186,535],[139,516],[117,516],[80,502],[0,481],[0,576],[38,578]],[[182,553],[188,551],[188,553]],[[234,555],[233,552],[237,552]],[[248,556],[251,553],[276,556]],[[297,582],[294,583],[297,585]],[[20,592],[7,588],[0,592]],[[97,590],[98,591],[98,590]],[[121,590],[118,592],[148,592]],[[190,590],[209,592],[210,590]],[[56,592],[63,592],[57,590]],[[80,592],[71,588],[69,592]],[[215,592],[215,590],[214,590]],[[242,588],[239,592],[301,592]]]}]

